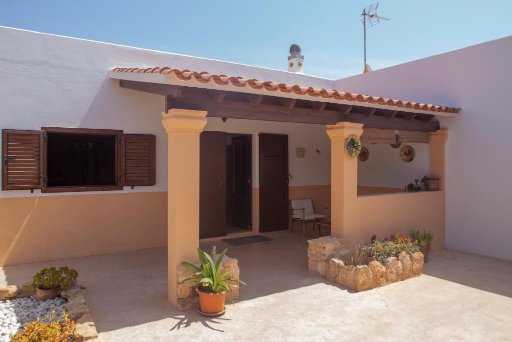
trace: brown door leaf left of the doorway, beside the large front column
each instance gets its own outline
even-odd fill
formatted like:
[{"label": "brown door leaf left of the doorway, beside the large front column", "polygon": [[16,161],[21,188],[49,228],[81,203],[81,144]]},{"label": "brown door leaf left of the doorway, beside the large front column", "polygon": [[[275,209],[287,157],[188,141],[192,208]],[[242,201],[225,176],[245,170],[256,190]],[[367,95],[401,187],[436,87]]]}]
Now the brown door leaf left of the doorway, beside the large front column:
[{"label": "brown door leaf left of the doorway, beside the large front column", "polygon": [[226,133],[204,131],[199,153],[199,238],[226,235]]}]

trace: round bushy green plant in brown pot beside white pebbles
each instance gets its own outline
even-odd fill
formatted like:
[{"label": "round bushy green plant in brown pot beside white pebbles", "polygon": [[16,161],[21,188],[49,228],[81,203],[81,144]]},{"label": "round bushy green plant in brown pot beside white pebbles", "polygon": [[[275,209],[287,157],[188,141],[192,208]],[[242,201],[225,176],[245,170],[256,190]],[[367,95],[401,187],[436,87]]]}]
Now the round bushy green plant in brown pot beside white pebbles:
[{"label": "round bushy green plant in brown pot beside white pebbles", "polygon": [[67,266],[59,269],[45,268],[34,275],[30,289],[35,289],[35,295],[39,301],[53,299],[60,290],[68,290],[77,277],[78,272]]}]

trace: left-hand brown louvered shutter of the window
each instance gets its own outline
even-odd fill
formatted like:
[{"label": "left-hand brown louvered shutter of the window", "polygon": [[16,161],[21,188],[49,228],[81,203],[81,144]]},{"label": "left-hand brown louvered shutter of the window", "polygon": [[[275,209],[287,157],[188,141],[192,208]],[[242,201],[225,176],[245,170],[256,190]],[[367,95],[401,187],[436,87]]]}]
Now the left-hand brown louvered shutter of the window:
[{"label": "left-hand brown louvered shutter of the window", "polygon": [[44,131],[2,130],[2,190],[42,189]]}]

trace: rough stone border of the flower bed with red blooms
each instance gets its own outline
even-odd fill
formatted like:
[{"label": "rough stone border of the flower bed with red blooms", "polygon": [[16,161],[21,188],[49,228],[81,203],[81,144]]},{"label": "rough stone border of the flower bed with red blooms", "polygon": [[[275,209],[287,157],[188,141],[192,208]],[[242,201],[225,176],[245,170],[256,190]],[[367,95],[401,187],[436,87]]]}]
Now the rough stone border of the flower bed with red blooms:
[{"label": "rough stone border of the flower bed with red blooms", "polygon": [[344,255],[350,253],[347,240],[324,236],[308,241],[309,271],[355,291],[366,291],[396,283],[421,274],[423,254],[401,252],[387,258],[384,265],[372,261],[364,266],[346,266]]}]

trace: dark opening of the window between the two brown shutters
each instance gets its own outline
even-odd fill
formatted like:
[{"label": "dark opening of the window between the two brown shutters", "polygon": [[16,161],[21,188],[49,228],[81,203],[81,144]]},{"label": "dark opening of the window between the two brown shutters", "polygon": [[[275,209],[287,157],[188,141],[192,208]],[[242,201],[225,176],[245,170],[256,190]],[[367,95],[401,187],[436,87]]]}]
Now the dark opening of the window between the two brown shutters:
[{"label": "dark opening of the window between the two brown shutters", "polygon": [[48,133],[48,186],[116,185],[116,136]]}]

